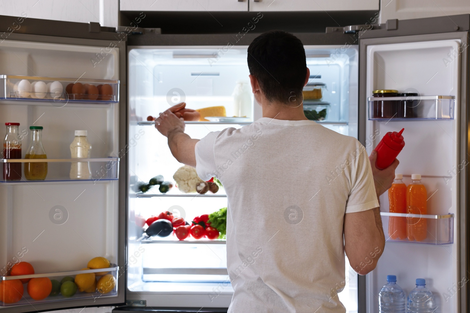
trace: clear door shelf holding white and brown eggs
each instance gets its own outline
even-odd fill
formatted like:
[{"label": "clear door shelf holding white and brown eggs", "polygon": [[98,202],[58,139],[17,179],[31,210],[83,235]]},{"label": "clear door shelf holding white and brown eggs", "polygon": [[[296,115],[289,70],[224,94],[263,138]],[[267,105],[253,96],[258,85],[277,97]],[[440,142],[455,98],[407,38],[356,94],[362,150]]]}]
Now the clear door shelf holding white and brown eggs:
[{"label": "clear door shelf holding white and brown eggs", "polygon": [[110,103],[119,100],[119,81],[0,75],[0,99]]}]

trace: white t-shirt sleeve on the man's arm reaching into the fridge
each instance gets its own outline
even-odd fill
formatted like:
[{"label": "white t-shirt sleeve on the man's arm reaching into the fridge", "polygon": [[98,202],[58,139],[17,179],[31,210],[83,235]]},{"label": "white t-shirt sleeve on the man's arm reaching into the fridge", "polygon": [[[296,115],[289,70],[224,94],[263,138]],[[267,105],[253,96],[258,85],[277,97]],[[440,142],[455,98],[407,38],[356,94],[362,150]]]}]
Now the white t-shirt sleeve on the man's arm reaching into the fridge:
[{"label": "white t-shirt sleeve on the man's arm reaching into the fridge", "polygon": [[196,143],[196,172],[204,181],[208,181],[216,174],[214,145],[219,133],[220,131],[210,132]]}]

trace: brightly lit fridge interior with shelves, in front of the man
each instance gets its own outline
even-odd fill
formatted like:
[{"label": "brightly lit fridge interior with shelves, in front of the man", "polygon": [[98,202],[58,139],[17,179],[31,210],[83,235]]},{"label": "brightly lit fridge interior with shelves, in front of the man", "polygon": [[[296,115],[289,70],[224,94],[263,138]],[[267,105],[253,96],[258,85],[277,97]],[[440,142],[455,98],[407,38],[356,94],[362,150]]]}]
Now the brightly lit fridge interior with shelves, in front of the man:
[{"label": "brightly lit fridge interior with shelves, in front of the man", "polygon": [[[211,131],[240,128],[260,118],[261,108],[251,93],[246,61],[247,45],[256,36],[245,35],[246,46],[227,45],[227,40],[230,44],[234,38],[223,34],[129,37],[128,143],[132,147],[128,163],[129,302],[154,309],[193,307],[195,312],[201,307],[227,308],[230,304],[233,289],[223,237],[196,239],[189,235],[179,240],[171,229],[160,232],[159,228],[158,234],[149,227],[166,211],[173,218],[183,217],[192,223],[203,214],[227,207],[223,186],[216,192],[199,194],[198,178],[178,178],[183,164],[172,156],[166,137],[154,128],[153,118],[180,102],[196,110],[224,107],[225,117],[209,115],[205,121],[186,121],[186,133],[198,139]],[[349,39],[345,34],[330,35],[334,39],[325,34],[298,36],[305,44],[311,72],[305,89],[309,98],[304,99],[305,115],[331,130],[357,137],[357,46],[342,49]],[[324,45],[315,45],[318,42]],[[243,114],[237,104],[241,95],[248,103]],[[190,174],[194,176],[195,171],[185,177],[191,177]],[[158,181],[168,181],[172,187],[161,189],[162,185],[155,184]],[[341,286],[337,288],[343,291],[332,297],[339,296],[347,312],[355,313],[357,274],[347,260],[345,263],[347,278],[338,282]]]}]

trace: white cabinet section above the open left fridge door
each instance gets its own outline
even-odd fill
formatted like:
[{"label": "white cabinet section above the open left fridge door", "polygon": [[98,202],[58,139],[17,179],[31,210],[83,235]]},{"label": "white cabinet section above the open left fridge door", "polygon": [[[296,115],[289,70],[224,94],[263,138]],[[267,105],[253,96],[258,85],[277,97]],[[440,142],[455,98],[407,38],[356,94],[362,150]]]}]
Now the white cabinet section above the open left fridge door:
[{"label": "white cabinet section above the open left fridge door", "polygon": [[0,15],[118,26],[118,0],[0,0]]}]

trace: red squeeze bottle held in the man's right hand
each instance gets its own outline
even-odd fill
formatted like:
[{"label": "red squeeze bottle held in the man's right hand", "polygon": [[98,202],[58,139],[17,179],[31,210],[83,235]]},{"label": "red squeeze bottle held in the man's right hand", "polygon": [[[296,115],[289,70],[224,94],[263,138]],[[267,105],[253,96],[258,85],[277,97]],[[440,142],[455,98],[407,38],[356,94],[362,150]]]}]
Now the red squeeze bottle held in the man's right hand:
[{"label": "red squeeze bottle held in the man's right hand", "polygon": [[397,158],[398,153],[405,146],[405,141],[403,141],[403,136],[401,136],[403,130],[405,129],[402,128],[398,133],[396,131],[389,131],[380,140],[374,149],[377,152],[376,168],[388,168]]}]

